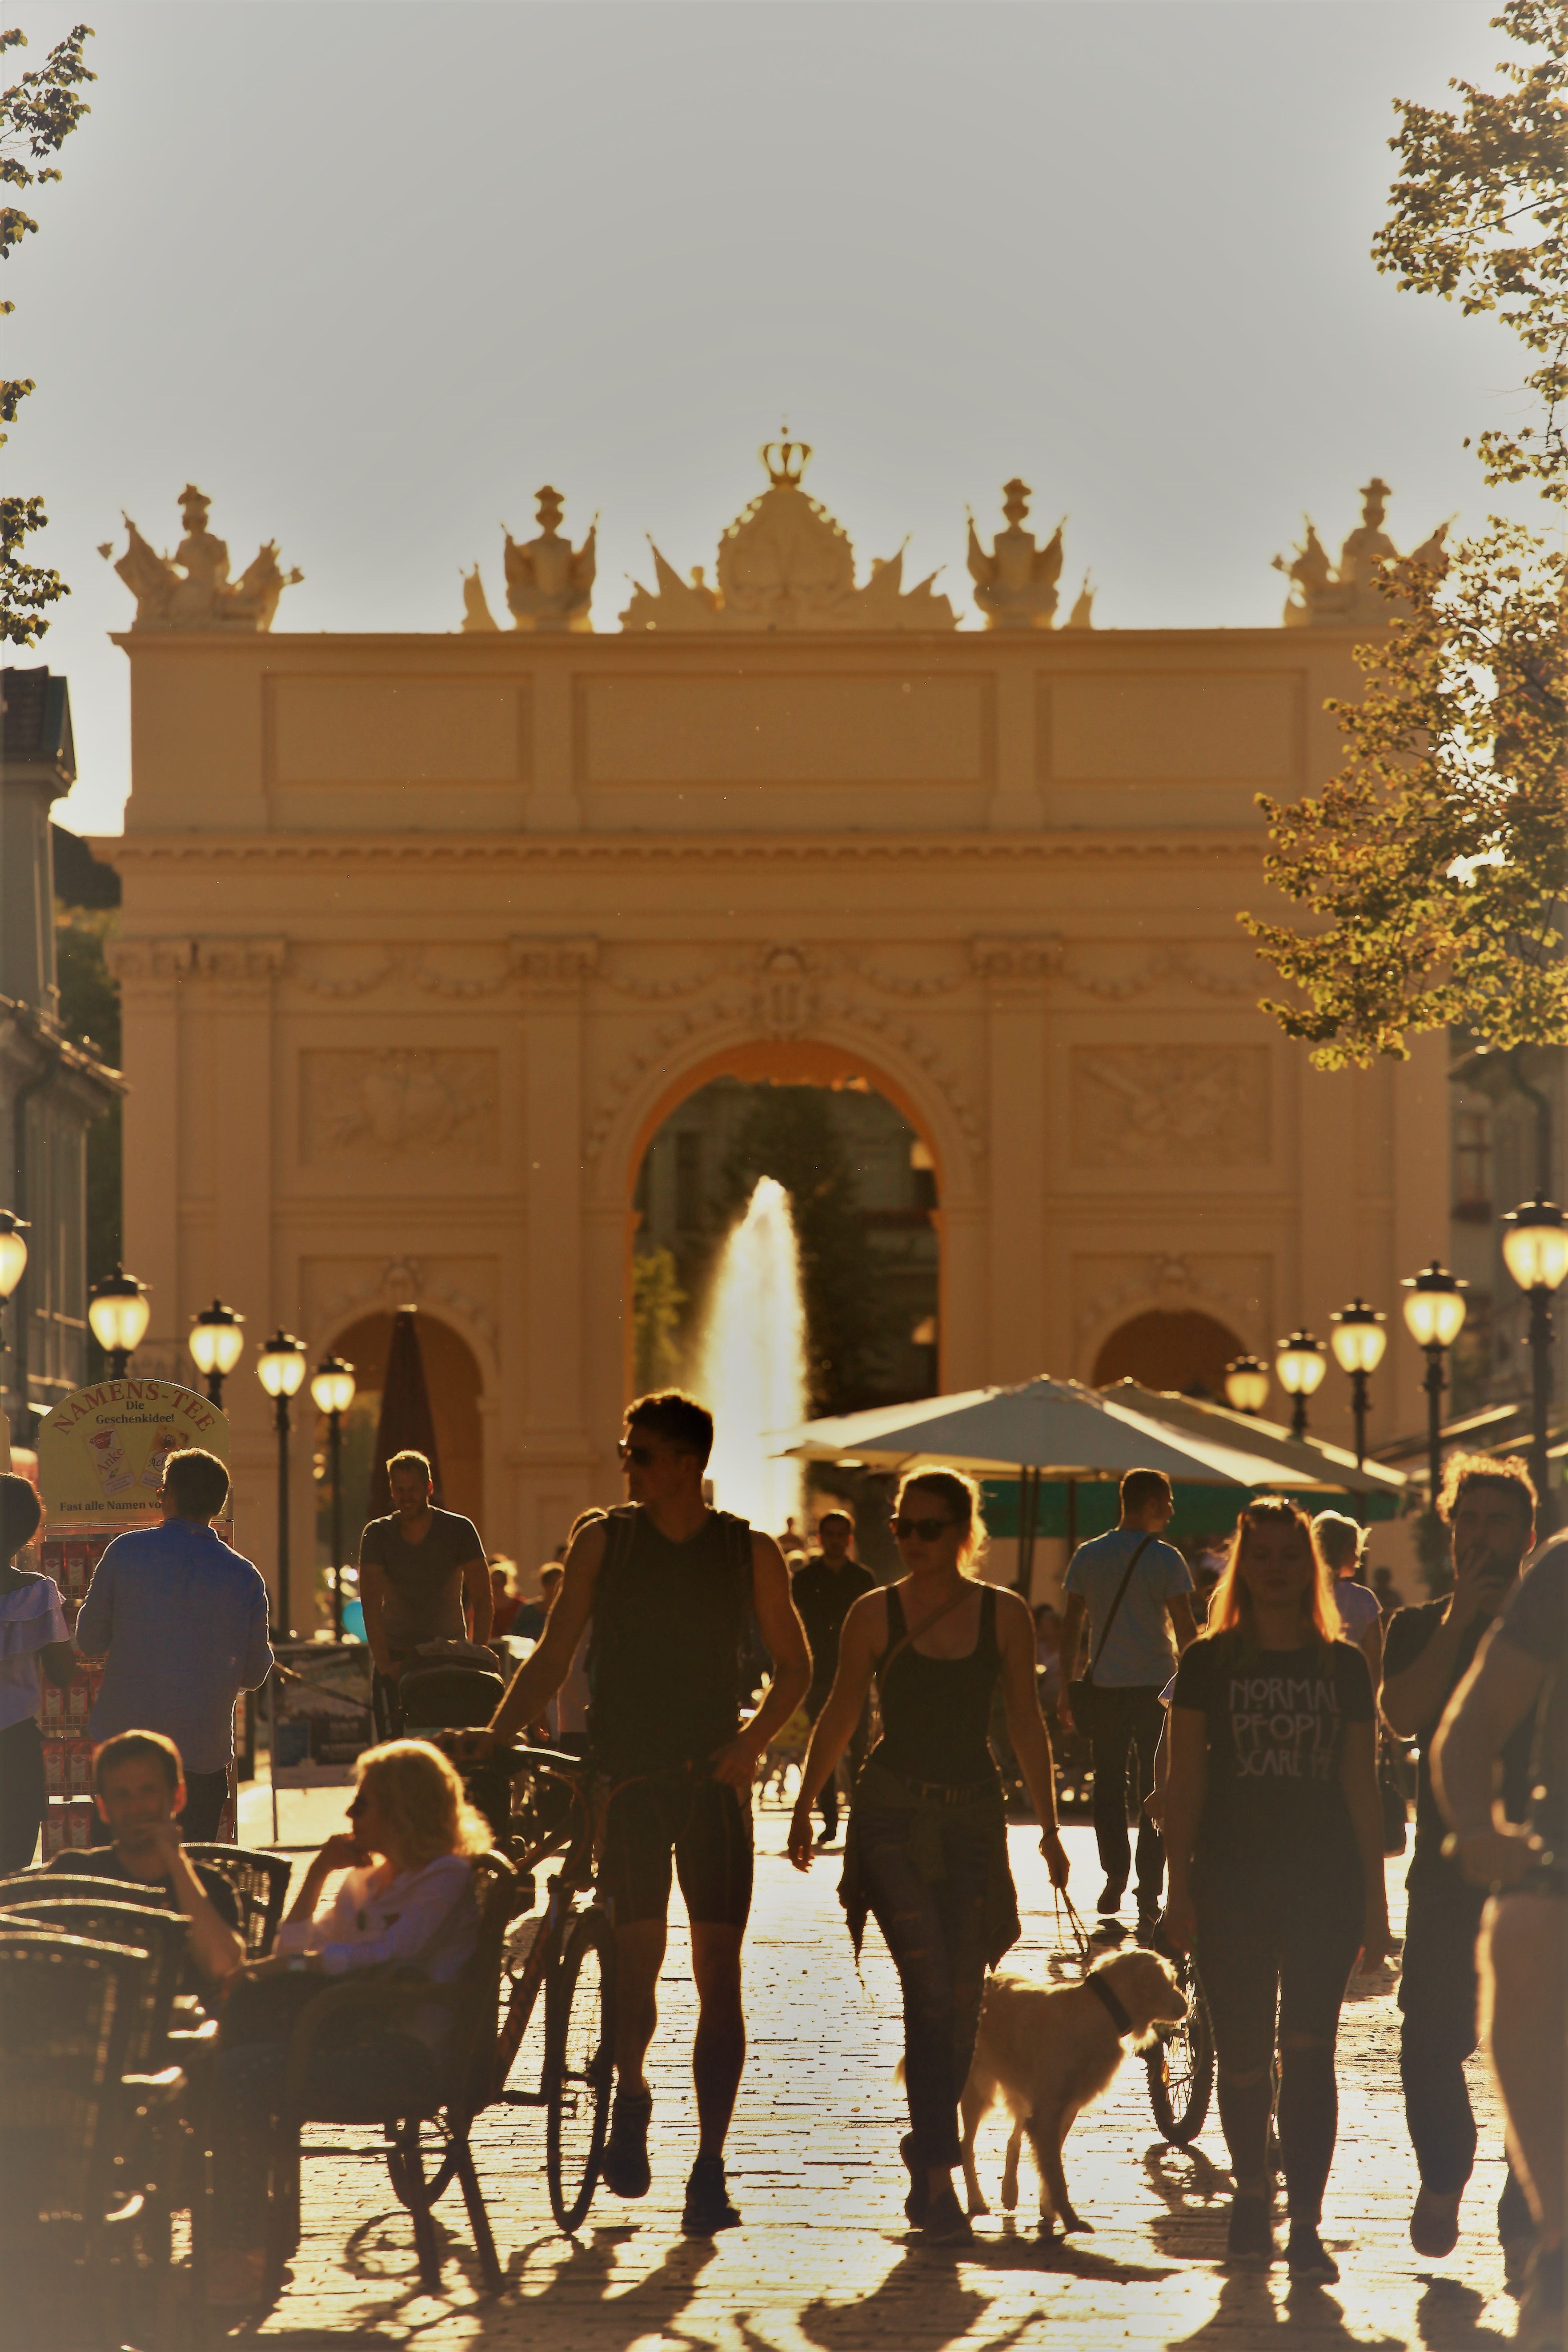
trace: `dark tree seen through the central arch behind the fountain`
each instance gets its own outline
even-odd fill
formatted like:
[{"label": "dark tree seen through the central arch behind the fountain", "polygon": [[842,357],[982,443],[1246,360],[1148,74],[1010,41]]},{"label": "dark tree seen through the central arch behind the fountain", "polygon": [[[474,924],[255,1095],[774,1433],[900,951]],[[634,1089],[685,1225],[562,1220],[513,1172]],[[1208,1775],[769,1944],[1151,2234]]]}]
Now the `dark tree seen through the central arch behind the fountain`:
[{"label": "dark tree seen through the central arch behind the fountain", "polygon": [[790,1195],[811,1411],[856,1411],[893,1334],[896,1303],[865,1247],[853,1160],[818,1087],[757,1089],[724,1164],[736,1209],[759,1176],[773,1176]]}]

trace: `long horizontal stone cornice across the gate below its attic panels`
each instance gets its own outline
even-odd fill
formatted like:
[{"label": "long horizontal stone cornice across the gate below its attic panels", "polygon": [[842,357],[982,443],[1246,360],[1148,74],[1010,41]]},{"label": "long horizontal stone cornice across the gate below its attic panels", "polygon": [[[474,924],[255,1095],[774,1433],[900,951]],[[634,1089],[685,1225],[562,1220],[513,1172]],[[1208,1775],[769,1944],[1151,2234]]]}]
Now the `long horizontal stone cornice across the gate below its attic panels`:
[{"label": "long horizontal stone cornice across the gate below its attic panels", "polygon": [[1105,833],[113,833],[115,873],[150,866],[1030,866],[1213,861],[1260,866],[1258,828]]}]

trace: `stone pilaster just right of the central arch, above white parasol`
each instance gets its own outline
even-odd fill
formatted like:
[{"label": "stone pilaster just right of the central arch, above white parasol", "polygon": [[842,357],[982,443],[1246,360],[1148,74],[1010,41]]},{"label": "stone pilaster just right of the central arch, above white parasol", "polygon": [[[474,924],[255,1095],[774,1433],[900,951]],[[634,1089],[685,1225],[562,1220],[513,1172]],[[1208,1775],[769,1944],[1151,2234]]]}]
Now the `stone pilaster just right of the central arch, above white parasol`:
[{"label": "stone pilaster just right of the central arch, above white parasol", "polygon": [[985,988],[990,1117],[987,1381],[1027,1381],[1046,1352],[1046,983],[1056,936],[973,938]]}]

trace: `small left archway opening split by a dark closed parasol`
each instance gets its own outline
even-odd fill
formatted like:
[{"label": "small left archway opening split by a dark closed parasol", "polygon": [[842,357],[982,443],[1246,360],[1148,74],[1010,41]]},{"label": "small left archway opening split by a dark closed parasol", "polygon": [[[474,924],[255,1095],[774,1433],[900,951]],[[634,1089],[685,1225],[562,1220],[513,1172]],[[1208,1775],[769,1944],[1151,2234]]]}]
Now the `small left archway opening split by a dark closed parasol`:
[{"label": "small left archway opening split by a dark closed parasol", "polygon": [[[393,1343],[386,1310],[362,1315],[331,1338],[331,1352],[355,1367],[355,1402],[343,1416],[343,1548],[360,1557],[360,1529],[369,1517],[369,1482],[381,1421],[381,1381]],[[418,1348],[425,1359],[435,1446],[442,1458],[442,1503],[461,1510],[484,1534],[484,1421],[482,1376],[468,1341],[440,1315],[418,1310]],[[327,1486],[327,1416],[315,1423],[315,1559],[331,1564],[331,1489]]]}]

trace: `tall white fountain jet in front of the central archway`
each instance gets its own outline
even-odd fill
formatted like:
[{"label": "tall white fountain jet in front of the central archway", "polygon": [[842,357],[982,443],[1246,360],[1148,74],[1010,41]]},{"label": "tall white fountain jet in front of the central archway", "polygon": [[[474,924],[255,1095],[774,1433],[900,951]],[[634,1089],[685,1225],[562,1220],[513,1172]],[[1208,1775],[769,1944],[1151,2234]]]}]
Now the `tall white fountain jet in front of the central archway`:
[{"label": "tall white fountain jet in front of the central archway", "polygon": [[799,1463],[771,1461],[769,1430],[806,1418],[806,1310],[790,1195],[762,1176],[712,1275],[696,1350],[696,1392],[712,1406],[708,1475],[719,1510],[769,1536],[802,1510]]}]

